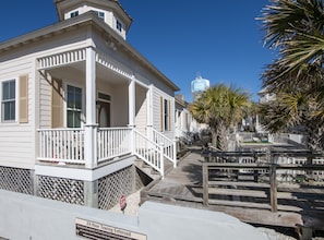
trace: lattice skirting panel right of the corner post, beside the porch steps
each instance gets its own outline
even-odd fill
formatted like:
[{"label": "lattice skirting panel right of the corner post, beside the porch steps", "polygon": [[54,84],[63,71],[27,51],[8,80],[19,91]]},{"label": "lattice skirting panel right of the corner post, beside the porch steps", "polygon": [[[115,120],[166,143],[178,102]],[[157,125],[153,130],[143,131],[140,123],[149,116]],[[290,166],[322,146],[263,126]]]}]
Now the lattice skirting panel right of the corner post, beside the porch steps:
[{"label": "lattice skirting panel right of the corner post, beside the porch steps", "polygon": [[110,209],[119,203],[121,195],[129,195],[142,187],[135,166],[106,176],[98,180],[98,206]]}]

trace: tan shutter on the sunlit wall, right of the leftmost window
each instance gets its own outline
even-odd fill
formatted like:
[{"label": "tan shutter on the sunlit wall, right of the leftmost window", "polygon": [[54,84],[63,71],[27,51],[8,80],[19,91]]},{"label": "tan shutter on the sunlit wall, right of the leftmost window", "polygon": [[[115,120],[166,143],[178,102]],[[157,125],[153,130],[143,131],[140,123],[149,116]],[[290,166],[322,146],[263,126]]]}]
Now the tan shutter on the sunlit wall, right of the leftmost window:
[{"label": "tan shutter on the sunlit wall, right of the leftmost window", "polygon": [[28,75],[21,75],[19,84],[20,84],[19,121],[20,121],[20,123],[27,123],[28,122]]}]

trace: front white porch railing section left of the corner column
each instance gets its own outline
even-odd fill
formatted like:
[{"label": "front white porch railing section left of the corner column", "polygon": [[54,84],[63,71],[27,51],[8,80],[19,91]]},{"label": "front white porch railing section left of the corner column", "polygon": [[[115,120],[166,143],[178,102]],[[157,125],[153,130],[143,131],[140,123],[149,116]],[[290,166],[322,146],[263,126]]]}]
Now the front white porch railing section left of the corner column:
[{"label": "front white porch railing section left of the corner column", "polygon": [[41,129],[39,160],[84,164],[84,130]]}]

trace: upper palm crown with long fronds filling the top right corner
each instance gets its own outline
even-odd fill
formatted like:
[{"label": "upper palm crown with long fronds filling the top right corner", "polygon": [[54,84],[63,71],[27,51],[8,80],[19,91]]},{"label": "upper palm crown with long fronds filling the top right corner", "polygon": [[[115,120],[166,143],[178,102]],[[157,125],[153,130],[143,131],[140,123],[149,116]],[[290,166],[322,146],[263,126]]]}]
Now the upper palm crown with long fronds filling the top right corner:
[{"label": "upper palm crown with long fronds filling the top right corner", "polygon": [[[272,0],[263,9],[265,45],[278,50],[278,59],[265,74],[265,83],[304,82],[305,74],[322,74],[324,5],[322,0]],[[276,74],[271,74],[275,70]],[[293,76],[293,77],[291,77]]]}]

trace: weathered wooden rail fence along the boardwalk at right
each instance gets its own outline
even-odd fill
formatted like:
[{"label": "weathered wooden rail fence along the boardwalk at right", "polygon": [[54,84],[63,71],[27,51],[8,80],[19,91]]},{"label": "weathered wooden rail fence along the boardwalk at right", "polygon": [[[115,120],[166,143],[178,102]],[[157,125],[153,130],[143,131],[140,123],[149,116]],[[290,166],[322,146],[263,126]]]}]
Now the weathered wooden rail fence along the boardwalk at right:
[{"label": "weathered wooden rail fence along the boardwalk at right", "polygon": [[[324,161],[311,153],[227,153],[204,152],[203,202],[205,205],[230,205],[296,209],[299,201],[313,201],[315,194],[324,207]],[[251,163],[240,163],[240,157]],[[303,159],[302,161],[291,161]],[[290,161],[290,163],[289,163]],[[253,202],[255,201],[255,202]],[[285,201],[285,204],[284,204]],[[287,206],[287,202],[293,204]],[[290,208],[289,208],[290,207]]]}]

